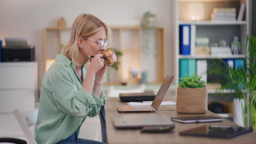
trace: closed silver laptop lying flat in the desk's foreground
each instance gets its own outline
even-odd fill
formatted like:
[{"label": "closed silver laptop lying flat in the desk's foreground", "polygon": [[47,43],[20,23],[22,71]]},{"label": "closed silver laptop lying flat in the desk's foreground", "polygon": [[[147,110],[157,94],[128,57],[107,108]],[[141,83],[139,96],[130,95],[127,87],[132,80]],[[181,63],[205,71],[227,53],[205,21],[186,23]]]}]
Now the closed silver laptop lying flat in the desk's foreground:
[{"label": "closed silver laptop lying flat in the desk's foreground", "polygon": [[157,114],[131,114],[114,117],[114,127],[118,129],[139,129],[144,126],[175,125],[170,118]]}]

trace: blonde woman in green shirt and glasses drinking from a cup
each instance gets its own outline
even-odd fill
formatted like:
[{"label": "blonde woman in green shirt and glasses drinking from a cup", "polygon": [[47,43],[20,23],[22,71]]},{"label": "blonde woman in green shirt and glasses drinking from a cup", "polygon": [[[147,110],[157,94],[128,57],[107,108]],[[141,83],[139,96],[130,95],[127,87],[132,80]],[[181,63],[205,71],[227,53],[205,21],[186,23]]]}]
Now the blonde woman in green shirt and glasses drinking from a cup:
[{"label": "blonde woman in green shirt and glasses drinking from a cup", "polygon": [[[63,55],[45,73],[35,129],[37,143],[102,143],[78,139],[86,117],[94,117],[106,104],[102,91],[106,65],[101,52],[109,34],[105,23],[89,14],[79,15]],[[90,58],[88,56],[94,56]],[[84,64],[90,61],[87,70]]]}]

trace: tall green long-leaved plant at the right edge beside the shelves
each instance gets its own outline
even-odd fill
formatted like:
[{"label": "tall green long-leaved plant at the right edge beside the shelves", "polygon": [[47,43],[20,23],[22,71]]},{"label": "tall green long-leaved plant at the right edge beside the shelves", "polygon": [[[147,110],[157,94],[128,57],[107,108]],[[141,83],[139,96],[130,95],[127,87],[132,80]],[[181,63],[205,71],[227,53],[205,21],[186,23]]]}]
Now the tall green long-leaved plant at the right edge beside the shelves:
[{"label": "tall green long-leaved plant at the right edge beside the shelves", "polygon": [[[234,91],[235,101],[242,101],[240,107],[242,112],[240,116],[243,117],[245,127],[249,127],[250,124],[256,129],[256,37],[247,38],[248,52],[245,58],[245,67],[221,67],[225,63],[214,64],[215,69],[212,73],[223,73],[222,87],[219,89],[220,94],[225,92],[225,89],[232,89]],[[219,65],[216,67],[216,65]],[[248,94],[248,98],[247,98]],[[248,117],[246,116],[248,114]],[[249,118],[249,119],[248,119]],[[249,123],[247,122],[249,121]]]}]

